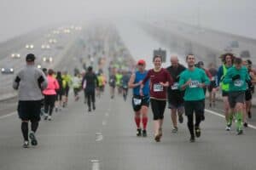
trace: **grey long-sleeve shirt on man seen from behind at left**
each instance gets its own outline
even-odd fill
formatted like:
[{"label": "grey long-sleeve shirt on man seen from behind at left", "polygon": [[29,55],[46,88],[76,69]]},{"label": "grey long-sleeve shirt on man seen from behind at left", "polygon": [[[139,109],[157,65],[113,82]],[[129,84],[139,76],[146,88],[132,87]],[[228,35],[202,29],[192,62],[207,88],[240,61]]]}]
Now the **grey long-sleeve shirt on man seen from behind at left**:
[{"label": "grey long-sleeve shirt on man seen from behind at left", "polygon": [[13,82],[13,88],[18,90],[20,101],[35,101],[44,99],[42,90],[47,88],[48,82],[44,72],[34,65],[26,65],[18,72]]}]

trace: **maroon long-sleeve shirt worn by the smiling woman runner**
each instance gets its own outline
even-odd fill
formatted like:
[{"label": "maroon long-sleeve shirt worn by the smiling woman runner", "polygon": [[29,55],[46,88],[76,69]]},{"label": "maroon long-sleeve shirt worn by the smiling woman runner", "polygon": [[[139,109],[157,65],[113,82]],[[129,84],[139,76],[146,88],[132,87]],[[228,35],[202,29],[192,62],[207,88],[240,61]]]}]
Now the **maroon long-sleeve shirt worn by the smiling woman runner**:
[{"label": "maroon long-sleeve shirt worn by the smiling woman runner", "polygon": [[150,79],[150,98],[166,100],[167,88],[162,86],[160,82],[169,82],[169,86],[172,86],[173,81],[170,73],[163,68],[158,72],[151,69],[148,71],[147,76],[143,79],[143,84],[145,84],[148,79]]}]

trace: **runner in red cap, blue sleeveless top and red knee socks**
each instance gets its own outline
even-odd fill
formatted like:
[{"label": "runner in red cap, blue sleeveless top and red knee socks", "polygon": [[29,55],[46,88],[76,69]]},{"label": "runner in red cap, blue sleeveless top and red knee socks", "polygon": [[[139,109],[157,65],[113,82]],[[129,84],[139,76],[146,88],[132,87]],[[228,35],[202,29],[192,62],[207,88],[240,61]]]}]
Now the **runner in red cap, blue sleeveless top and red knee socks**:
[{"label": "runner in red cap, blue sleeveless top and red knee socks", "polygon": [[[128,82],[129,88],[133,88],[132,107],[135,111],[134,121],[137,125],[137,136],[147,137],[148,125],[148,106],[149,106],[149,81],[143,87],[143,97],[140,95],[140,86],[148,71],[145,71],[146,62],[143,59],[138,60],[137,70],[131,75]],[[141,128],[143,122],[143,132]]]}]

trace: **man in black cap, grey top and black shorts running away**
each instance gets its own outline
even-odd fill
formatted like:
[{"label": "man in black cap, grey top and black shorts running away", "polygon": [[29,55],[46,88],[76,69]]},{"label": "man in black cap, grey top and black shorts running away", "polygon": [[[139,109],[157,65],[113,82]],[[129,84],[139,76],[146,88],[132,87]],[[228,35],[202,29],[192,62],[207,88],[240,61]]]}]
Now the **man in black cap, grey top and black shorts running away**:
[{"label": "man in black cap, grey top and black shorts running away", "polygon": [[[18,114],[21,119],[23,147],[29,147],[28,136],[32,145],[38,145],[35,133],[40,121],[41,101],[44,99],[42,90],[47,87],[44,72],[35,66],[35,55],[26,55],[26,68],[18,72],[13,88],[18,90]],[[31,133],[28,135],[28,122],[31,122]]]}]

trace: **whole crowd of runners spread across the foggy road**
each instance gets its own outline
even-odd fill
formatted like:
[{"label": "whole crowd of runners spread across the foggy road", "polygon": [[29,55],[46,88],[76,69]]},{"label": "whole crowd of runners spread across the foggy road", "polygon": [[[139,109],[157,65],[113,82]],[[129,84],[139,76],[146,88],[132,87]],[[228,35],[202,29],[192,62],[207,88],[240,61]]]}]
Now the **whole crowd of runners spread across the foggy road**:
[{"label": "whole crowd of runners spread across the foggy road", "polygon": [[[109,67],[108,78],[102,69],[94,71],[88,66],[86,71],[75,71],[71,76],[67,71],[52,69],[39,70],[34,65],[36,57],[27,54],[26,67],[15,77],[13,87],[19,91],[18,113],[21,119],[23,146],[37,145],[36,131],[41,116],[51,121],[53,112],[61,111],[68,104],[68,94],[73,88],[74,100],[79,101],[80,92],[84,92],[84,104],[88,111],[96,110],[96,98],[101,98],[108,85],[110,99],[116,93],[126,101],[131,88],[131,105],[137,136],[147,137],[148,107],[153,112],[154,140],[160,142],[163,136],[163,122],[166,105],[170,109],[172,133],[178,132],[177,122],[183,123],[183,113],[187,116],[190,142],[201,136],[201,122],[205,120],[206,94],[208,105],[215,107],[216,94],[222,93],[225,130],[230,131],[236,122],[236,132],[243,133],[252,117],[253,84],[256,72],[253,63],[247,59],[223,54],[222,65],[209,65],[205,68],[202,61],[196,62],[194,54],[186,56],[187,65],[179,63],[178,56],[171,56],[171,65],[162,67],[162,57],[154,56],[154,68],[146,70],[146,62],[139,59],[134,71]],[[195,119],[195,121],[194,121]],[[29,133],[29,122],[31,132]]]}]

